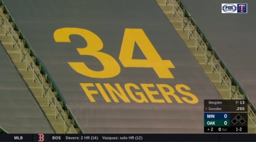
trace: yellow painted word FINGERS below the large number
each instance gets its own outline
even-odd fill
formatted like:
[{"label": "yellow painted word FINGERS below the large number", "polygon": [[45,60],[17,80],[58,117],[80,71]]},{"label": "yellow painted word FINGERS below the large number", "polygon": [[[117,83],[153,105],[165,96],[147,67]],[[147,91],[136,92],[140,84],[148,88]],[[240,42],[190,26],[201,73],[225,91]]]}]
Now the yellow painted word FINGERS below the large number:
[{"label": "yellow painted word FINGERS below the large number", "polygon": [[[189,86],[177,84],[100,84],[80,83],[90,102],[97,102],[94,96],[101,95],[106,102],[137,103],[189,103],[196,104],[199,99],[191,92]],[[156,99],[157,97],[157,99]],[[159,97],[161,99],[159,99]],[[118,99],[119,98],[119,99]],[[112,101],[112,100],[113,101]]]}]

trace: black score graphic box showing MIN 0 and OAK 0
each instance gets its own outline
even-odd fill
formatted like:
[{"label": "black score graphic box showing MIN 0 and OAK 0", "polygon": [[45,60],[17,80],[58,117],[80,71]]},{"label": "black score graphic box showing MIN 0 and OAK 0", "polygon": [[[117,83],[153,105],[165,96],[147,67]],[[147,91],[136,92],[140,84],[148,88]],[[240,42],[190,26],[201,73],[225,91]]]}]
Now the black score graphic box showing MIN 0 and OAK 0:
[{"label": "black score graphic box showing MIN 0 and OAK 0", "polygon": [[245,100],[204,100],[205,133],[247,133]]}]

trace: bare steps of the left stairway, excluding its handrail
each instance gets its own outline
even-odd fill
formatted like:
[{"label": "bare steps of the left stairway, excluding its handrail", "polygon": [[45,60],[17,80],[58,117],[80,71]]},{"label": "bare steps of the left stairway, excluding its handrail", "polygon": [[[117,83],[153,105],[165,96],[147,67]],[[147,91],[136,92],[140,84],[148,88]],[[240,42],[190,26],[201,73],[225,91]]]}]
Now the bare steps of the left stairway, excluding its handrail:
[{"label": "bare steps of the left stairway, excluding its handrail", "polygon": [[[7,16],[7,15],[3,14],[3,9],[2,8],[0,10],[0,15],[2,17]],[[64,123],[61,120],[60,116],[57,116],[55,118],[55,107],[54,107],[54,105],[50,105],[50,107],[48,106],[48,99],[47,99],[47,97],[45,97],[47,92],[45,90],[43,90],[43,92],[42,92],[41,84],[35,76],[34,76],[34,79],[33,79],[33,70],[32,69],[26,69],[26,62],[21,62],[20,61],[21,59],[26,60],[26,56],[24,56],[23,54],[20,54],[20,50],[19,50],[19,47],[18,47],[17,44],[13,44],[14,41],[12,42],[12,40],[11,40],[11,34],[6,34],[7,31],[11,31],[11,29],[13,29],[13,27],[10,26],[12,24],[13,23],[9,23],[7,20],[6,20],[6,23],[4,24],[4,20],[1,18],[0,40],[1,40],[1,43],[3,44],[3,46],[4,46],[4,49],[7,51],[11,61],[14,63],[14,65],[18,69],[18,72],[24,78],[26,84],[29,86],[29,88],[30,88],[31,92],[33,93],[34,97],[36,98],[36,100],[40,104],[41,109],[43,110],[43,112],[45,113],[49,122],[51,123],[52,127],[54,128],[54,131],[56,133],[76,134],[77,132],[75,131],[75,129],[71,128],[71,131],[69,131],[67,125],[66,125],[66,130],[64,131]],[[5,28],[5,26],[6,26],[6,28]],[[21,41],[18,39],[18,34],[17,33],[13,33],[13,34],[17,38],[16,40],[18,40],[18,42],[20,43]],[[21,45],[21,50],[23,52],[28,52],[27,49],[24,46],[24,43],[21,42],[20,45]],[[32,65],[33,61],[29,61],[29,57],[27,57],[27,61],[30,65]],[[37,76],[40,75],[40,70],[39,70],[38,67],[34,68],[34,72],[37,74]],[[49,87],[48,84],[46,84],[45,78],[43,78],[43,82],[44,82],[45,87]],[[42,93],[44,95],[42,95]],[[52,97],[51,100],[54,100],[54,98]],[[61,110],[62,108],[58,106],[57,109]],[[64,112],[62,112],[61,114],[64,115],[63,113]],[[65,116],[66,116],[66,122],[68,124],[71,124],[71,120],[68,119],[68,115],[66,113],[65,113]]]}]

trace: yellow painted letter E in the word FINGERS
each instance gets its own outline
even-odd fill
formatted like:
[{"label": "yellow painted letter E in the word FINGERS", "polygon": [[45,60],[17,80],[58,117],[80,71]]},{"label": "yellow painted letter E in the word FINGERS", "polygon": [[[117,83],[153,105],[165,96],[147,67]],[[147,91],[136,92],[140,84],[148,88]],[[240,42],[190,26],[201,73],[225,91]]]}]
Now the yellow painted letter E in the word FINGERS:
[{"label": "yellow painted letter E in the word FINGERS", "polygon": [[150,91],[148,88],[155,87],[154,84],[141,84],[142,88],[146,92],[148,98],[152,102],[157,102],[157,103],[165,103],[165,100],[163,99],[155,99],[153,95],[158,95],[159,93],[157,91]]}]

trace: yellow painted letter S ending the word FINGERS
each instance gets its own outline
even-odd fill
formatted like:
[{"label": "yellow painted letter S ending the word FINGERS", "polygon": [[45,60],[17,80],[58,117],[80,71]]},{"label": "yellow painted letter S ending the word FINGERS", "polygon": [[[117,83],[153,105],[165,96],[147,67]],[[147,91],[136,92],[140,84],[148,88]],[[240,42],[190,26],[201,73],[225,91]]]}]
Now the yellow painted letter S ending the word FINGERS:
[{"label": "yellow painted letter S ending the word FINGERS", "polygon": [[178,84],[175,86],[175,88],[179,93],[192,98],[192,100],[189,100],[187,97],[181,97],[185,102],[190,103],[190,104],[196,104],[199,102],[198,98],[194,94],[181,90],[181,88],[184,88],[186,90],[191,90],[187,85]]}]

